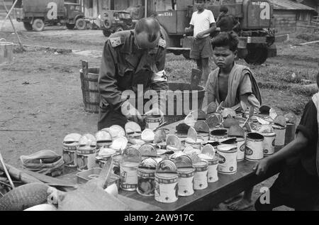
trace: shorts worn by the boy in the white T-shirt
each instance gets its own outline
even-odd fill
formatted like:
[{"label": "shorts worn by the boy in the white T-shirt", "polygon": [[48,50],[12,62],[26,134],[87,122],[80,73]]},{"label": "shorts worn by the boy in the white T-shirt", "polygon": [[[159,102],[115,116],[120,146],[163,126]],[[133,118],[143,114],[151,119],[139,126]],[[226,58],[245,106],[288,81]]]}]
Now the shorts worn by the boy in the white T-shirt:
[{"label": "shorts worn by the boy in the white T-shirt", "polygon": [[211,46],[211,37],[194,40],[193,46],[191,47],[191,59],[199,60],[213,56],[213,47]]}]

